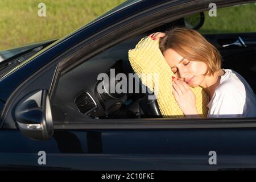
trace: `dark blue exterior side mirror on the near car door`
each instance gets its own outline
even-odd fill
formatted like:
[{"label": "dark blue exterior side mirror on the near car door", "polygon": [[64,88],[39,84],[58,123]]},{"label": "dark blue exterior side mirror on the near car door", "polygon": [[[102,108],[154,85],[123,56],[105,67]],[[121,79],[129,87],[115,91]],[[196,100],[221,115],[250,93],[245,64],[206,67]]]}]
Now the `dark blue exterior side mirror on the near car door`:
[{"label": "dark blue exterior side mirror on the near car door", "polygon": [[36,90],[20,100],[15,119],[23,135],[38,140],[51,139],[54,129],[47,90]]}]

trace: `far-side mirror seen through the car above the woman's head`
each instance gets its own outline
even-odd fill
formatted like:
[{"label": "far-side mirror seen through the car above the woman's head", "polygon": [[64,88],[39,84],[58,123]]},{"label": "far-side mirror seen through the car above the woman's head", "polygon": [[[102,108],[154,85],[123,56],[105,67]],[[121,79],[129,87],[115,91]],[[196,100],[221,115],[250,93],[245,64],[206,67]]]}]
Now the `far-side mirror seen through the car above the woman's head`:
[{"label": "far-side mirror seen through the car above the woman's head", "polygon": [[185,27],[199,30],[204,24],[204,12],[188,15],[184,17]]}]

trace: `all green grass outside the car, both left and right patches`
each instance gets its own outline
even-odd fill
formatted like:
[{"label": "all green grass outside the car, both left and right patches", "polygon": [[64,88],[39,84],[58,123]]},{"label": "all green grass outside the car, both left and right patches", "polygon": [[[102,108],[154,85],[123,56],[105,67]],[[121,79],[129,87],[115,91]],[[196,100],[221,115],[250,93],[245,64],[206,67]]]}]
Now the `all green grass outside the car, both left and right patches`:
[{"label": "all green grass outside the car, both left and right patches", "polygon": [[[38,16],[40,2],[46,4],[46,17]],[[0,0],[0,50],[60,38],[122,2],[125,0]],[[217,7],[217,17],[205,12],[199,32],[256,32],[256,6]]]}]

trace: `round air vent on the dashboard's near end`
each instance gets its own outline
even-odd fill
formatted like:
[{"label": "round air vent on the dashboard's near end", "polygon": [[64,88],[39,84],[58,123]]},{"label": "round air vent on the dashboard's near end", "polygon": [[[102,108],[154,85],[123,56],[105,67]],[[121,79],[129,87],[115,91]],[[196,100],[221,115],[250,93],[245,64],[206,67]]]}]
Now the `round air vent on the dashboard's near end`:
[{"label": "round air vent on the dashboard's near end", "polygon": [[75,100],[75,104],[80,113],[92,114],[92,111],[97,108],[96,102],[88,92],[81,93]]}]

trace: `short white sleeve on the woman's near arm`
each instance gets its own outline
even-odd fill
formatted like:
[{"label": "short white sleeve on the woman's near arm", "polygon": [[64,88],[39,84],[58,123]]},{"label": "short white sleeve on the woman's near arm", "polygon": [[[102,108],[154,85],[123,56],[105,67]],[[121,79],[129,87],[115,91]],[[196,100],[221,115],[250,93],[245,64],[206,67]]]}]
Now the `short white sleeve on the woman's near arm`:
[{"label": "short white sleeve on the woman's near arm", "polygon": [[208,117],[242,117],[245,98],[238,89],[222,89],[221,93],[216,94],[214,102],[209,110]]}]

